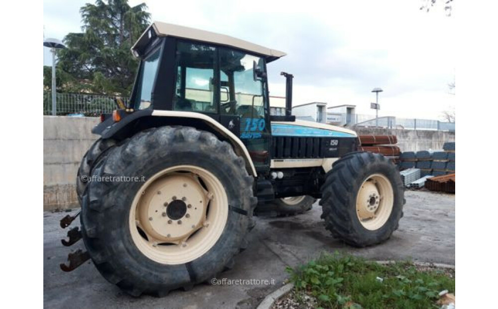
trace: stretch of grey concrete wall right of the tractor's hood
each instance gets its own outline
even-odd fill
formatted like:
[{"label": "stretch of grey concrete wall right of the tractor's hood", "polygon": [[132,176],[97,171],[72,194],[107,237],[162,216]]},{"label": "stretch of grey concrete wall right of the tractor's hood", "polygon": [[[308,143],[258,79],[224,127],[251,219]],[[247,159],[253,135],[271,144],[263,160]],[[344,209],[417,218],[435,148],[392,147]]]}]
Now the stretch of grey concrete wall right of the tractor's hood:
[{"label": "stretch of grey concrete wall right of the tractor's hood", "polygon": [[395,135],[401,152],[442,150],[444,142],[455,142],[455,132],[356,128],[358,135]]}]

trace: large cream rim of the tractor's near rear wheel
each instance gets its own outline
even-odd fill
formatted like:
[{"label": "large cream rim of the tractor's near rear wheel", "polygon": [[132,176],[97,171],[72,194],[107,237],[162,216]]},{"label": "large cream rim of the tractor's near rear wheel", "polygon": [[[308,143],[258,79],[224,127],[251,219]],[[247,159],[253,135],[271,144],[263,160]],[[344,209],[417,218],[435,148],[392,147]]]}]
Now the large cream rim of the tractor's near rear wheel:
[{"label": "large cream rim of the tractor's near rear wheel", "polygon": [[166,168],[138,190],[129,229],[134,244],[161,264],[184,264],[211,249],[228,218],[228,198],[220,180],[193,165]]}]

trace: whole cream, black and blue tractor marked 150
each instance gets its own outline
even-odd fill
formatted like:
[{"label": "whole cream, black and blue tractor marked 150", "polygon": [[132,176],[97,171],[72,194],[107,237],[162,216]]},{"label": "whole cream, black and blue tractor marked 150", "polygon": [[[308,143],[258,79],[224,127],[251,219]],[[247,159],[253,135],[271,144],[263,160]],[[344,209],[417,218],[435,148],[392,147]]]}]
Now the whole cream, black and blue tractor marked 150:
[{"label": "whole cream, black and blue tractor marked 150", "polygon": [[101,116],[78,170],[81,230],[66,243],[87,251],[63,270],[91,259],[135,297],[189,290],[234,265],[268,203],[320,199],[325,228],[356,247],[397,229],[404,188],[390,160],[358,152],[354,131],[296,120],[292,74],[281,73],[285,115],[270,115],[267,65],[285,53],[163,22],[131,52],[130,101]]}]

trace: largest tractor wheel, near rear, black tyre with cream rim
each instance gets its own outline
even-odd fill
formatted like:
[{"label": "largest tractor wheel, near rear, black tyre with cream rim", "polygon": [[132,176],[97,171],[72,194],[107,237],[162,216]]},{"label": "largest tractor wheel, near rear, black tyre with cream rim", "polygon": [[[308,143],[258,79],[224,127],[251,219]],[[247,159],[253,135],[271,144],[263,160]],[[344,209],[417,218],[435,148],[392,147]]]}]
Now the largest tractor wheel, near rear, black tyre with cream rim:
[{"label": "largest tractor wheel, near rear, black tyre with cream rim", "polygon": [[[230,268],[245,244],[257,201],[253,178],[230,144],[209,132],[161,127],[138,133],[111,149],[92,176],[101,180],[83,195],[85,246],[99,272],[132,296],[190,290]],[[139,181],[117,181],[120,176]],[[194,200],[196,194],[203,197]],[[185,205],[170,209],[172,201]]]}]

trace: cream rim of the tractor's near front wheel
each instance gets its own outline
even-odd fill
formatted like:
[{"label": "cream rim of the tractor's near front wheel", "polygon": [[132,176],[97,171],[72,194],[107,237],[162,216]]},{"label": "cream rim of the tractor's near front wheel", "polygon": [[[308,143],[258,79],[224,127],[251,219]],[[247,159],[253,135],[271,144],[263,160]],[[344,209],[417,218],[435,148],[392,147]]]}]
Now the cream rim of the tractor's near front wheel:
[{"label": "cream rim of the tractor's near front wheel", "polygon": [[381,174],[370,175],[356,197],[356,214],[368,230],[381,228],[389,219],[394,203],[390,181]]}]

